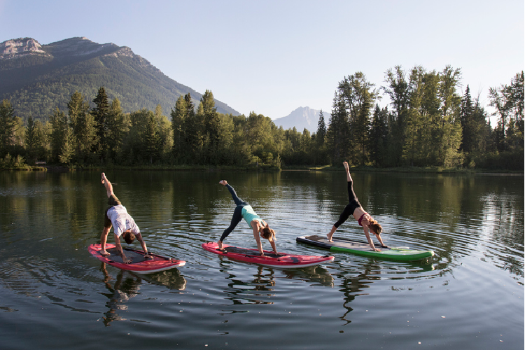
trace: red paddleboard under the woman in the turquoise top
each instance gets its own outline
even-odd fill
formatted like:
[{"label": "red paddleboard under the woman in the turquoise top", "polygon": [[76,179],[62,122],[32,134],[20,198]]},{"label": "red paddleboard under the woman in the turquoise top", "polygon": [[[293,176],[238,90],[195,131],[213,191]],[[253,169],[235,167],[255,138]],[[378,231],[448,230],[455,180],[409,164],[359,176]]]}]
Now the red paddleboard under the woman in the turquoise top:
[{"label": "red paddleboard under the woman in the turquoise top", "polygon": [[287,253],[275,254],[272,251],[264,251],[265,256],[260,256],[258,249],[239,248],[237,246],[228,246],[223,244],[224,251],[218,250],[216,242],[203,243],[202,248],[211,253],[223,255],[227,258],[242,262],[251,262],[253,264],[265,265],[269,267],[279,267],[281,269],[295,269],[298,267],[307,267],[321,264],[321,262],[330,262],[334,260],[333,256],[315,256],[315,255],[295,255]]}]

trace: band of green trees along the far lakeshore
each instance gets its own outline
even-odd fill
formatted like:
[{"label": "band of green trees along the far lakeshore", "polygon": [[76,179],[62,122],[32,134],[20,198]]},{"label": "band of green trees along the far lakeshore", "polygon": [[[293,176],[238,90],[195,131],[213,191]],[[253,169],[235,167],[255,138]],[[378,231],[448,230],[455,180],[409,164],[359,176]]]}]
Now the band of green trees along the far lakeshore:
[{"label": "band of green trees along the far lakeshore", "polygon": [[[97,165],[232,167],[323,166],[343,160],[360,167],[524,169],[524,72],[510,85],[491,87],[498,123],[468,85],[458,93],[461,70],[388,69],[375,87],[362,72],[344,77],[332,111],[316,132],[276,127],[269,117],[218,113],[207,90],[195,106],[181,95],[169,118],[157,106],[123,113],[100,87],[92,106],[80,92],[67,110],[22,120],[8,100],[0,105],[0,165],[38,161],[69,167]],[[388,106],[378,104],[381,96]]]}]

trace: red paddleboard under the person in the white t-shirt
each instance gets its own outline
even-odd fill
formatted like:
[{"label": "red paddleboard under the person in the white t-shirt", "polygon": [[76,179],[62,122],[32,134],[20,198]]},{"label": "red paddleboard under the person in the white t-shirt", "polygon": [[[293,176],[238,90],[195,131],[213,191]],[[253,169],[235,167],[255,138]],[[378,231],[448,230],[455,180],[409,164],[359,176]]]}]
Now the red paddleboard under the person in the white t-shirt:
[{"label": "red paddleboard under the person in the white t-shirt", "polygon": [[106,262],[106,264],[139,274],[153,274],[153,272],[173,269],[174,267],[184,266],[186,264],[186,261],[183,260],[176,260],[151,253],[148,254],[151,256],[151,259],[146,259],[144,258],[144,251],[128,248],[124,250],[124,253],[128,259],[132,259],[132,262],[125,264],[120,255],[118,255],[115,244],[106,243],[106,251],[110,253],[108,256],[101,255],[100,249],[100,244],[91,244],[87,250],[91,255],[102,262]]}]

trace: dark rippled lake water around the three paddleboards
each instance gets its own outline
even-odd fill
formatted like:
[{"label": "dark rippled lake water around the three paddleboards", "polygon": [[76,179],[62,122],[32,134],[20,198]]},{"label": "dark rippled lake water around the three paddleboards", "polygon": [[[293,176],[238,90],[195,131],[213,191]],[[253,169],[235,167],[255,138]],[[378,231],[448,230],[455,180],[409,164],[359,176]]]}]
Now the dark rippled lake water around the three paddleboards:
[{"label": "dark rippled lake water around the three paddleboards", "polygon": [[[523,349],[523,176],[353,174],[386,244],[435,257],[335,253],[279,270],[201,248],[234,209],[218,181],[273,226],[279,251],[325,255],[295,237],[328,233],[343,171],[106,174],[150,250],[186,266],[140,276],[87,253],[106,208],[99,172],[0,172],[1,349]],[[347,221],[336,237],[362,232]],[[243,223],[227,243],[255,248]]]}]

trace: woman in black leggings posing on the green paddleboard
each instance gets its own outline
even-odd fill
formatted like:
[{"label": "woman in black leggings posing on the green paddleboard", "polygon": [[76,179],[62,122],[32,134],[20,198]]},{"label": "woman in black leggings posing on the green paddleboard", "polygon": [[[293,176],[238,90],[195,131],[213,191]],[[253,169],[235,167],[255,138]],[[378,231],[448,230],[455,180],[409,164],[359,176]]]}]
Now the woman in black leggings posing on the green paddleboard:
[{"label": "woman in black leggings posing on the green paddleboard", "polygon": [[370,230],[370,232],[372,232],[375,237],[377,237],[377,240],[381,246],[386,247],[383,243],[383,240],[381,239],[381,231],[383,228],[381,228],[381,225],[379,225],[379,223],[377,223],[377,221],[375,221],[374,218],[372,218],[372,216],[370,216],[370,214],[364,211],[363,207],[361,207],[361,204],[356,197],[356,193],[353,192],[352,177],[350,176],[348,163],[343,162],[343,165],[344,169],[346,170],[346,181],[348,181],[349,204],[346,205],[343,212],[341,213],[341,216],[339,216],[339,221],[333,225],[332,230],[326,237],[328,238],[328,241],[332,241],[332,236],[334,235],[335,230],[337,230],[337,228],[339,228],[339,226],[344,223],[344,221],[346,221],[350,215],[353,215],[353,218],[357,220],[359,225],[363,226],[363,231],[365,231],[366,239],[372,250],[381,251],[381,249],[374,247],[374,242],[370,238],[368,231]]}]

